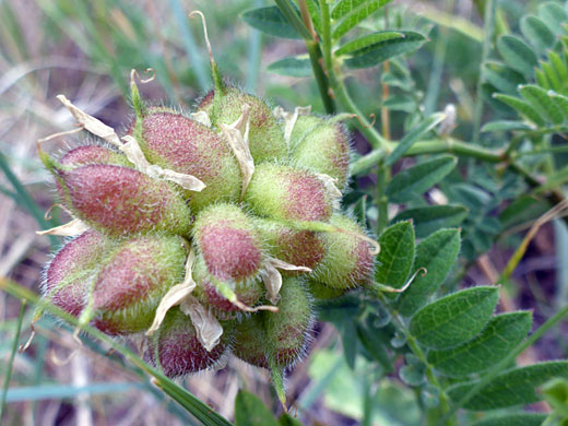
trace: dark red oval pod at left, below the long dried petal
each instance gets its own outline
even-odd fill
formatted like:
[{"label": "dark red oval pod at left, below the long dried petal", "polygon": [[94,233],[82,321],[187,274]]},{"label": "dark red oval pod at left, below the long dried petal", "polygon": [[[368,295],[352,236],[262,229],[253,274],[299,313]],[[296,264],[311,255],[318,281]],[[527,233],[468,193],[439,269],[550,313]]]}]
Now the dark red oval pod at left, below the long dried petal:
[{"label": "dark red oval pod at left, below the long dried petal", "polygon": [[191,214],[181,196],[166,181],[132,168],[81,166],[59,171],[59,184],[67,206],[108,235],[189,232]]}]

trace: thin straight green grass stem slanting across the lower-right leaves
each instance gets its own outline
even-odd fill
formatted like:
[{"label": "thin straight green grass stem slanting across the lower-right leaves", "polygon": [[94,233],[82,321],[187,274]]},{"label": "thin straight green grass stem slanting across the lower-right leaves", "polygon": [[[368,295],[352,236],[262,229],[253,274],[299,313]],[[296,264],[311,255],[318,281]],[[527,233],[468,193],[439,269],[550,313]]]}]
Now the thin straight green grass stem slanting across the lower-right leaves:
[{"label": "thin straight green grass stem slanting across the lower-right leaves", "polygon": [[553,315],[544,324],[542,324],[534,333],[531,334],[529,339],[526,339],[524,342],[522,342],[514,351],[509,353],[504,359],[501,359],[500,363],[497,363],[481,380],[477,384],[475,384],[461,400],[459,400],[450,410],[450,412],[446,415],[446,417],[449,417],[450,415],[454,414],[458,409],[463,406],[468,401],[470,401],[473,397],[480,392],[483,387],[485,387],[489,381],[492,381],[499,372],[507,368],[510,363],[517,358],[524,350],[532,346],[539,339],[541,339],[544,333],[546,333],[549,329],[555,327],[558,322],[560,322],[564,317],[568,315],[568,306],[565,306],[559,311],[557,311],[555,315]]}]

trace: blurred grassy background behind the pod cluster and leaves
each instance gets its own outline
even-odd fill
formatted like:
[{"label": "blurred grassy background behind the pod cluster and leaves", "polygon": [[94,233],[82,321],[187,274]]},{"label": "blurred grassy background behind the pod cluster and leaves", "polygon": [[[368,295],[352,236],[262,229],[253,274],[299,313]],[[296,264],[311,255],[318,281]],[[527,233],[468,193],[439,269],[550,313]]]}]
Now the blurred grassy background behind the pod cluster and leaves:
[{"label": "blurred grassy background behind the pod cluster and leaves", "polygon": [[[426,110],[458,109],[454,134],[471,132],[474,88],[483,39],[478,13],[481,1],[394,1],[406,25],[429,34],[427,43],[409,61],[415,85],[398,105],[391,105],[393,139],[400,138],[404,120],[416,104]],[[511,22],[537,1],[500,1]],[[156,78],[141,85],[143,96],[158,105],[180,105],[190,110],[211,87],[209,58],[199,20],[188,19],[201,10],[209,24],[213,52],[221,71],[233,82],[256,92],[273,105],[293,109],[312,105],[323,113],[309,70],[280,75],[268,66],[287,56],[301,55],[299,40],[274,39],[247,26],[245,11],[271,5],[264,0],[0,0],[0,277],[9,277],[39,291],[42,269],[59,241],[35,230],[66,217],[55,209],[50,176],[36,154],[36,141],[72,129],[74,121],[57,100],[64,94],[81,109],[113,128],[130,119],[128,83],[131,69],[153,68]],[[369,19],[378,25],[381,14]],[[441,40],[441,42],[440,42]],[[441,54],[440,54],[441,52]],[[366,114],[378,115],[375,96],[380,91],[380,69],[357,71],[353,96]],[[434,84],[431,75],[435,75]],[[487,114],[490,114],[487,113]],[[69,141],[54,141],[62,150]],[[78,139],[80,141],[80,139]],[[355,133],[359,153],[369,150]],[[494,282],[510,255],[510,244],[485,247],[475,264],[460,279],[465,283]],[[487,255],[487,252],[489,255]],[[534,309],[541,323],[568,300],[568,236],[564,225],[541,229],[516,272],[523,285],[512,287],[513,308]],[[490,259],[490,260],[489,260]],[[20,303],[0,293],[0,381],[8,372]],[[33,308],[25,311],[21,342],[29,335]],[[29,348],[15,357],[3,416],[5,425],[188,425],[193,421],[131,366],[116,362],[104,346],[76,348],[70,329],[50,317],[36,324]],[[292,413],[310,425],[356,425],[365,410],[366,377],[370,364],[358,357],[350,368],[342,342],[330,323],[318,323],[310,356],[288,378]],[[531,359],[565,357],[566,341],[558,331],[541,341]],[[115,359],[116,358],[116,359]],[[237,359],[227,367],[187,378],[181,384],[222,415],[232,418],[238,389],[261,397],[279,409],[264,371]],[[415,425],[418,410],[411,391],[395,378],[380,382],[374,403],[376,425]],[[410,392],[410,394],[409,394]]]}]

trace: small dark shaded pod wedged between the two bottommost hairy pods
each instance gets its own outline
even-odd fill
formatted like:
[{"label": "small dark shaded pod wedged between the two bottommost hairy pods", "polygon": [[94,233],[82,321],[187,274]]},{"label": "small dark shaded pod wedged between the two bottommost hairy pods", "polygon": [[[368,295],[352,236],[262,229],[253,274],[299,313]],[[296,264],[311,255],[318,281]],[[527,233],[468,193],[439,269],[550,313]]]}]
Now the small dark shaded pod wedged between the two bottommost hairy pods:
[{"label": "small dark shaded pod wedged between the two bottommost hairy pods", "polygon": [[233,353],[245,363],[256,367],[269,368],[265,346],[268,335],[264,330],[263,313],[252,313],[237,322]]}]

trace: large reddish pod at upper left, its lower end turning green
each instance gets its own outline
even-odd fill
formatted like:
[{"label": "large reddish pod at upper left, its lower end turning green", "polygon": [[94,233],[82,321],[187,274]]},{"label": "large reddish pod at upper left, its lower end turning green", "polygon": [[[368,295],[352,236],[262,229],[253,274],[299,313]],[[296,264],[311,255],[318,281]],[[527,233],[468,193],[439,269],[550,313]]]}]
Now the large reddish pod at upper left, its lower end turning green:
[{"label": "large reddish pod at upper left, its lower end turning green", "polygon": [[227,142],[213,130],[181,114],[154,110],[142,121],[140,141],[150,162],[206,185],[201,192],[186,191],[193,210],[238,200],[239,165]]}]

